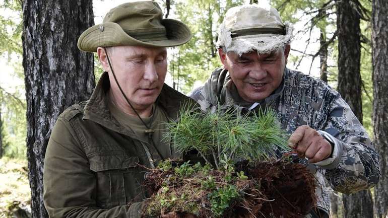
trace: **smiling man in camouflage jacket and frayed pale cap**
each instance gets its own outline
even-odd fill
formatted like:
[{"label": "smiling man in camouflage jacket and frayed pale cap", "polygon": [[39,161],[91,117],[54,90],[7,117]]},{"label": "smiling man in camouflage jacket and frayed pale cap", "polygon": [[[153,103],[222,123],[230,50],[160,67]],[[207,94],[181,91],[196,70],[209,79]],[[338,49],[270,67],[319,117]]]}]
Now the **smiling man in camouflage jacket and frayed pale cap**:
[{"label": "smiling man in camouflage jacket and frayed pale cap", "polygon": [[229,9],[217,42],[223,68],[214,70],[190,97],[203,110],[219,104],[275,109],[282,127],[291,133],[289,146],[319,183],[316,208],[306,217],[329,217],[325,178],[343,193],[368,189],[381,176],[378,155],[338,92],[286,68],[291,38],[291,25],[273,8]]}]

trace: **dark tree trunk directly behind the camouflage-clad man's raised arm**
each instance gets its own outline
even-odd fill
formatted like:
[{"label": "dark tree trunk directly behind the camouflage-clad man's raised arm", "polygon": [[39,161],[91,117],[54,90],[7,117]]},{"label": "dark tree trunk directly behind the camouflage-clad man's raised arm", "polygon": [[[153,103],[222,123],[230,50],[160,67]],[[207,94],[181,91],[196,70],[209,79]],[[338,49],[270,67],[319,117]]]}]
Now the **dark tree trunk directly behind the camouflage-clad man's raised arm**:
[{"label": "dark tree trunk directly behind the camouflage-clad man's raised arm", "polygon": [[[361,102],[361,30],[358,0],[337,1],[338,92],[362,122]],[[369,190],[343,195],[344,217],[373,218],[373,201]]]}]

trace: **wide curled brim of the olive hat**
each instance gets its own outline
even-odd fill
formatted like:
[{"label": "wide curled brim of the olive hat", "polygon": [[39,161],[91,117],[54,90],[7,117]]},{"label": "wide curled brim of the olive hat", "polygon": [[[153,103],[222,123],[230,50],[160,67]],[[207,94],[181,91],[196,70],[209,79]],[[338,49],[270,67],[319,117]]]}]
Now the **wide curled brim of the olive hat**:
[{"label": "wide curled brim of the olive hat", "polygon": [[[82,51],[96,52],[98,47],[133,45],[145,47],[173,47],[188,42],[191,32],[180,21],[163,19],[167,40],[141,41],[126,34],[117,23],[106,22],[85,30],[78,39],[77,46]],[[102,27],[101,27],[102,26]]]}]

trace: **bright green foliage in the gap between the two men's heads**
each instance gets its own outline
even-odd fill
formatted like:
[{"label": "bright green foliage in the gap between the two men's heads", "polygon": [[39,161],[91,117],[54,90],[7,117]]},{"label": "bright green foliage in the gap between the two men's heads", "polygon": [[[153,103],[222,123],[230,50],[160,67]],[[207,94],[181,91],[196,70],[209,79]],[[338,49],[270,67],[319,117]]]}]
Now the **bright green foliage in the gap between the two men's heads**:
[{"label": "bright green foliage in the gap between the two men's heads", "polygon": [[204,82],[221,63],[215,47],[218,26],[227,9],[241,5],[242,0],[175,1],[172,11],[187,24],[193,36],[183,46],[171,50],[169,73],[173,88],[188,93],[195,83]]}]

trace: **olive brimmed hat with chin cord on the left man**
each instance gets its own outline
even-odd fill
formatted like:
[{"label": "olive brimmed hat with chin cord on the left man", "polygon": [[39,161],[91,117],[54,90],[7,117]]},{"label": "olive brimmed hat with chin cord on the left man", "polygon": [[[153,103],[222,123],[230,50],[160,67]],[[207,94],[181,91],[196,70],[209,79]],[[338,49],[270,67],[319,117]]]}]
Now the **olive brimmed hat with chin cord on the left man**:
[{"label": "olive brimmed hat with chin cord on the left man", "polygon": [[78,39],[78,48],[96,52],[99,46],[173,47],[188,42],[190,38],[190,30],[185,24],[163,19],[157,3],[131,2],[111,9],[102,24],[85,30]]}]

